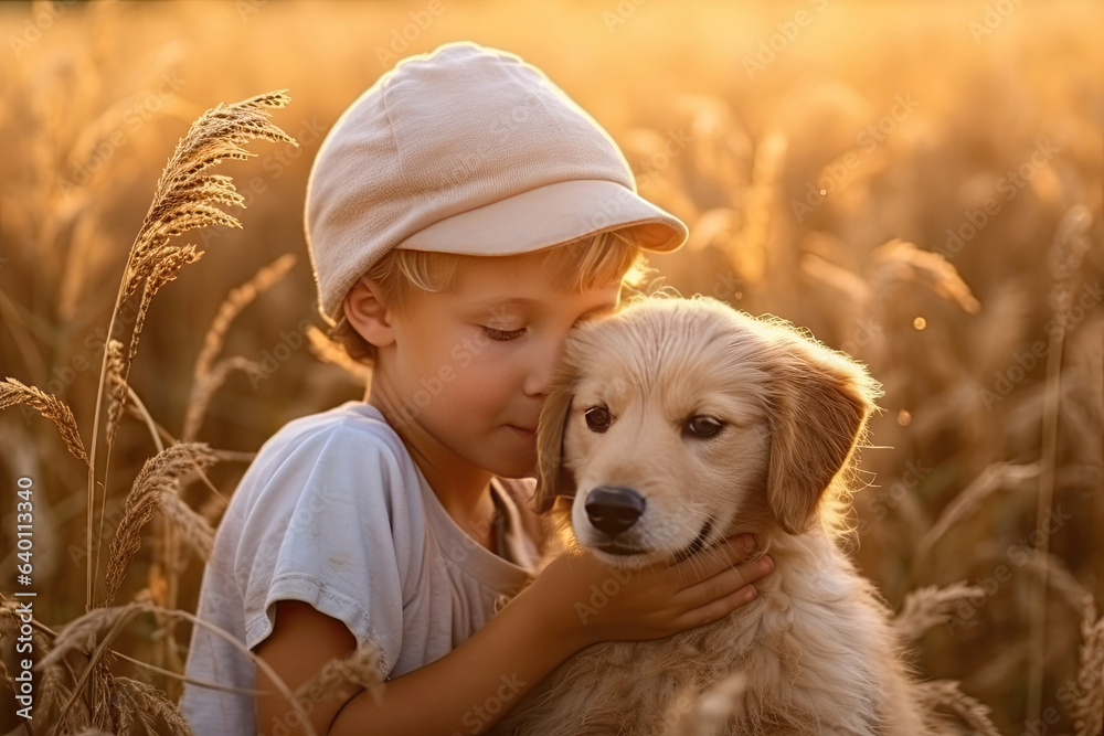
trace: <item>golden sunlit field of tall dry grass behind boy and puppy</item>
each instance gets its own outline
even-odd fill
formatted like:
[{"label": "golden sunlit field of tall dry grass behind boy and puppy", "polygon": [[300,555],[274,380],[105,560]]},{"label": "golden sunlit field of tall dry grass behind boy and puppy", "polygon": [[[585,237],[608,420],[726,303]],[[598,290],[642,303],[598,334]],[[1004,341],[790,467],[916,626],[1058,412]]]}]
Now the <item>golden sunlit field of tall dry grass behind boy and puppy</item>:
[{"label": "golden sunlit field of tall dry grass behind boy and puppy", "polygon": [[399,57],[470,39],[690,225],[667,286],[883,384],[851,552],[960,733],[1104,734],[1102,31],[1020,0],[2,3],[0,733],[189,733],[235,482],[363,394],[318,329],[310,162]]}]

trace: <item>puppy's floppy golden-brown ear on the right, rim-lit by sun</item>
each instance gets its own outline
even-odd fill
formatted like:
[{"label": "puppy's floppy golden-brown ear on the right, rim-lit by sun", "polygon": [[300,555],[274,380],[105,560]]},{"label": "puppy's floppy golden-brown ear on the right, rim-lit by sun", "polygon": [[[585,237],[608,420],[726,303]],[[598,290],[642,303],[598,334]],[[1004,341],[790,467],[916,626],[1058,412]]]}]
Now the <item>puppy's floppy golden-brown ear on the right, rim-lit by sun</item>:
[{"label": "puppy's floppy golden-brown ear on the right, rim-lit by sun", "polygon": [[861,438],[875,390],[850,361],[790,359],[773,376],[767,501],[783,530],[799,534]]}]

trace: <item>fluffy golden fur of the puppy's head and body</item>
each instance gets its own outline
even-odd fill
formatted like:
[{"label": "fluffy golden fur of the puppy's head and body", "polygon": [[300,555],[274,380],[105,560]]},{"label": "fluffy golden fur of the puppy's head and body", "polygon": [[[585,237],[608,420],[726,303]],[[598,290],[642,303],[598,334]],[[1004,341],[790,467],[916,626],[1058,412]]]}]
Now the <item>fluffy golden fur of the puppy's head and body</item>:
[{"label": "fluffy golden fur of the puppy's head and body", "polygon": [[[694,716],[703,693],[742,672],[716,733],[937,733],[884,605],[838,547],[852,451],[877,396],[846,355],[709,298],[640,299],[575,330],[538,430],[538,504],[555,502],[561,531],[574,532],[569,543],[633,568],[709,554],[751,532],[775,569],[756,583],[756,599],[715,623],[580,652],[499,732],[670,733]],[[587,426],[594,406],[608,409],[605,431]],[[691,417],[702,415],[722,429],[690,433]],[[646,499],[643,515],[616,535],[638,552],[614,550],[590,523],[585,499],[599,486]],[[614,583],[603,595],[616,595]],[[576,610],[585,618],[595,605],[601,596]]]}]

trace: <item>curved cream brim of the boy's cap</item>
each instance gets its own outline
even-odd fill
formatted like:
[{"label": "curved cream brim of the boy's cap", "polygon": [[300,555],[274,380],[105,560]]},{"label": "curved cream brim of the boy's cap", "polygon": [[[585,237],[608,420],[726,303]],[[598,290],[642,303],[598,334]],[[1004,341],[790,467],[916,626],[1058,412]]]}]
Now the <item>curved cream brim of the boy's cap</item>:
[{"label": "curved cream brim of the boy's cap", "polygon": [[686,243],[687,226],[612,181],[546,184],[442,220],[396,245],[476,256],[509,256],[563,245],[607,231],[631,228],[645,250]]}]

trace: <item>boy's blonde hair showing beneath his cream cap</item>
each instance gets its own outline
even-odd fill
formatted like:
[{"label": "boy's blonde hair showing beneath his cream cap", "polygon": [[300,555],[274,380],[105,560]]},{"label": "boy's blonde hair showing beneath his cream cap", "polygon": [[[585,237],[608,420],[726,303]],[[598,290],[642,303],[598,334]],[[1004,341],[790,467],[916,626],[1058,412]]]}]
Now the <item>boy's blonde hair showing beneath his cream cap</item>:
[{"label": "boy's blonde hair showing beneath his cream cap", "polygon": [[[386,253],[365,276],[379,284],[390,309],[402,312],[420,292],[447,291],[455,286],[456,273],[466,258],[452,253],[395,248]],[[638,290],[654,271],[631,232],[605,232],[548,248],[541,268],[565,291],[580,292],[596,285],[619,281],[623,294]],[[378,351],[357,332],[342,313],[330,339],[344,348],[354,361],[375,365]]]}]

